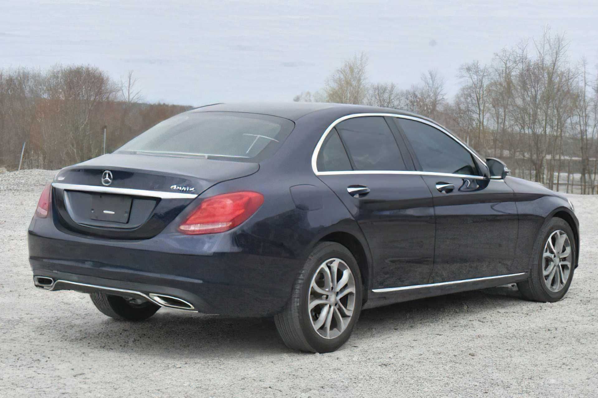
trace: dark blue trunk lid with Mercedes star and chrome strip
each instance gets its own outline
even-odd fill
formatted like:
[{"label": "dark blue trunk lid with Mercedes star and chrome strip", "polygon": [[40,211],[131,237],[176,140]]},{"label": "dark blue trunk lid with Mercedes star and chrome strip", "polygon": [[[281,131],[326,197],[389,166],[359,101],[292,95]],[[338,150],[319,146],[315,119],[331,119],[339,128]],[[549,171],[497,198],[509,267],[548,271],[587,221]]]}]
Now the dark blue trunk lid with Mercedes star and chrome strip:
[{"label": "dark blue trunk lid with Mercedes star and chrome strip", "polygon": [[115,153],[63,169],[53,202],[60,227],[112,239],[148,239],[221,181],[257,172],[251,162]]}]

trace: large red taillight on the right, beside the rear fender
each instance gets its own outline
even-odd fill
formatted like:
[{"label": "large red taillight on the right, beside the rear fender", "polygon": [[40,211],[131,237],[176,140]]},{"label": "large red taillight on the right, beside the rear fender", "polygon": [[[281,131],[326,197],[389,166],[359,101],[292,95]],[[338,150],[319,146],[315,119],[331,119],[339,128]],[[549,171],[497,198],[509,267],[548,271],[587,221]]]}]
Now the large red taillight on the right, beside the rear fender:
[{"label": "large red taillight on the right, beside the rear fender", "polygon": [[224,232],[247,220],[264,203],[264,195],[257,192],[234,192],[212,196],[179,226],[187,235]]}]

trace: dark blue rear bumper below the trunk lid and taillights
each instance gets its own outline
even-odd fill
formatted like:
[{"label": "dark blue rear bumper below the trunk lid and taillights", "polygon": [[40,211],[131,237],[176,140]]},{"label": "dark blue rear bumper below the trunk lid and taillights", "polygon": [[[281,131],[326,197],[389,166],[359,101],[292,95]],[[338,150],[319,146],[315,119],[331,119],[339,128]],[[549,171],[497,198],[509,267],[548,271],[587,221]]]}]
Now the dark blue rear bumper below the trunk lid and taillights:
[{"label": "dark blue rear bumper below the trunk lid and taillights", "polygon": [[[34,276],[64,281],[45,287],[53,291],[166,295],[190,303],[194,311],[228,316],[270,316],[282,310],[302,261],[248,252],[231,245],[239,236],[219,235],[217,240],[208,237],[212,242],[180,234],[178,241],[154,237],[117,242],[56,229],[51,237],[40,236],[30,229],[29,263]],[[264,248],[263,243],[247,247]]]}]

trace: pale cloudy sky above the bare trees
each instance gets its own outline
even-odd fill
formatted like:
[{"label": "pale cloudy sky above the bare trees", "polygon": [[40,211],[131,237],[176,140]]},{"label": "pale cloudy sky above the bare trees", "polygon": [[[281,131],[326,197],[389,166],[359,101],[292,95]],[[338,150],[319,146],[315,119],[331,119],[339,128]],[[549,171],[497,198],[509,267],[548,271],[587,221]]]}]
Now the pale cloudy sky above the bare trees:
[{"label": "pale cloudy sky above the bare trees", "polygon": [[93,64],[133,70],[145,101],[200,106],[291,101],[353,54],[371,82],[408,88],[437,69],[565,33],[570,62],[598,63],[598,1],[0,0],[0,68]]}]

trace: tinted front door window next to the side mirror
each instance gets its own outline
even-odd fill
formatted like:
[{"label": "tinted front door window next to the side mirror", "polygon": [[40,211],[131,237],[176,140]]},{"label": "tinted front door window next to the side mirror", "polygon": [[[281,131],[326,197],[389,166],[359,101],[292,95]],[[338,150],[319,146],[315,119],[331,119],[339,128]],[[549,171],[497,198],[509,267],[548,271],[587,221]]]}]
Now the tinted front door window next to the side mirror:
[{"label": "tinted front door window next to the side mirror", "polygon": [[425,123],[395,118],[411,143],[423,171],[478,175],[474,160],[463,146]]}]

